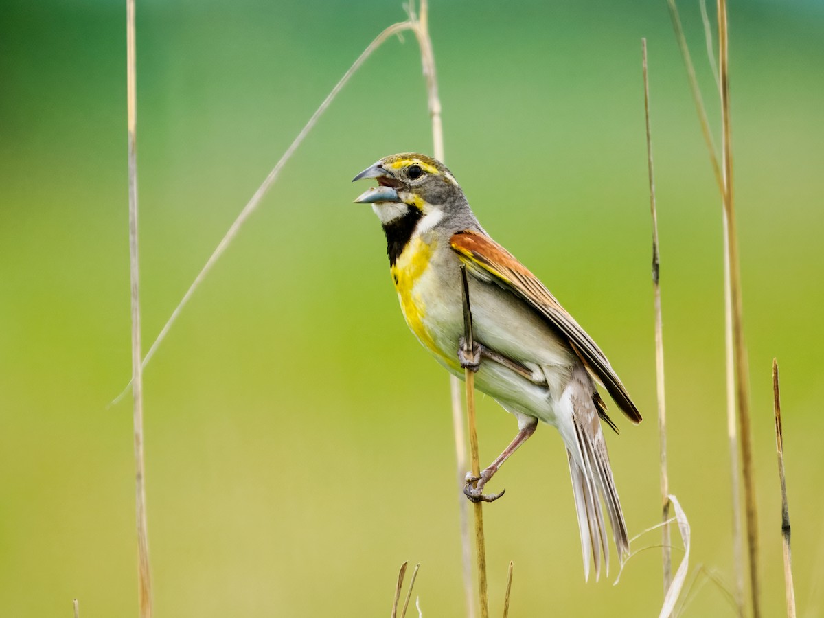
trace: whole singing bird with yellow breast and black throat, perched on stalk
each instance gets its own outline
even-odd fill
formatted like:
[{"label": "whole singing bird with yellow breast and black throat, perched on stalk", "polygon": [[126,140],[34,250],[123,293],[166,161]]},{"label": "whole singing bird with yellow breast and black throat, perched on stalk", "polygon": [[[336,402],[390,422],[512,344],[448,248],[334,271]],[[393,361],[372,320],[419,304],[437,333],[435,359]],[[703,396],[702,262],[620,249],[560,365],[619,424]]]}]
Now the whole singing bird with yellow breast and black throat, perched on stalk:
[{"label": "whole singing bird with yellow breast and black throat, perched on stalk", "polygon": [[[424,348],[517,419],[515,439],[480,478],[467,475],[464,493],[491,501],[484,486],[503,461],[535,432],[538,421],[564,439],[583,548],[596,577],[609,549],[601,502],[621,561],[629,554],[624,514],[612,479],[599,419],[615,429],[598,394],[601,383],[631,421],[641,415],[606,356],[550,291],[480,227],[447,167],[421,154],[384,157],[353,180],[374,178],[354,201],[372,204],[386,232],[392,281],[406,323]],[[464,349],[463,281],[468,274],[473,339]],[[600,500],[599,500],[600,495]]]}]

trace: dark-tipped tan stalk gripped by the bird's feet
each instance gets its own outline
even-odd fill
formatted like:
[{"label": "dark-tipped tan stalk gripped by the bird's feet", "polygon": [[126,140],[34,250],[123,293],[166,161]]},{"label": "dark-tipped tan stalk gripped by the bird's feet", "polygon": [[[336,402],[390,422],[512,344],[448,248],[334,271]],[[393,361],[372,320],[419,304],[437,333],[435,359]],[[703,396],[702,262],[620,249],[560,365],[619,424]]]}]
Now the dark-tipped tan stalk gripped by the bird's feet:
[{"label": "dark-tipped tan stalk gripped by the bird's feet", "polygon": [[[466,279],[466,265],[461,264],[464,308],[464,353],[472,356],[475,341],[472,338],[472,307],[469,298],[469,281]],[[466,382],[466,425],[469,428],[469,447],[472,457],[472,475],[480,475],[478,457],[478,432],[475,429],[475,372],[470,368],[464,370]],[[481,618],[489,618],[489,597],[486,588],[486,541],[484,538],[483,502],[475,503],[475,553],[478,559],[478,598]]]}]

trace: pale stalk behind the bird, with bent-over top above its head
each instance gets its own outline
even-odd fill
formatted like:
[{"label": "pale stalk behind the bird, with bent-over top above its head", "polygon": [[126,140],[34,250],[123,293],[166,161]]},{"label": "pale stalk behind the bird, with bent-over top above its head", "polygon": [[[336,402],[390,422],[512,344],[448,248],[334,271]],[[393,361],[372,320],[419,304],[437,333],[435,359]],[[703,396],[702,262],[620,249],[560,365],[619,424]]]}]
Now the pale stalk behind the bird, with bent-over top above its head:
[{"label": "pale stalk behind the bird, with bent-over top above its head", "polygon": [[[432,49],[432,38],[429,36],[429,5],[428,0],[421,0],[420,9],[415,16],[414,8],[410,4],[410,21],[414,23],[414,35],[420,49],[420,63],[424,71],[426,91],[428,96],[429,120],[432,123],[433,155],[438,161],[444,162],[443,154],[443,124],[441,120],[441,99],[438,96],[438,75],[435,72],[435,54]],[[461,405],[461,380],[456,376],[449,377],[450,401],[452,405],[452,433],[455,437],[456,482],[458,487],[458,517],[461,526],[461,564],[466,597],[466,612],[469,618],[475,618],[475,602],[472,595],[472,550],[469,540],[469,505],[464,499],[461,489],[466,474],[466,436],[463,424],[463,405]]]}]

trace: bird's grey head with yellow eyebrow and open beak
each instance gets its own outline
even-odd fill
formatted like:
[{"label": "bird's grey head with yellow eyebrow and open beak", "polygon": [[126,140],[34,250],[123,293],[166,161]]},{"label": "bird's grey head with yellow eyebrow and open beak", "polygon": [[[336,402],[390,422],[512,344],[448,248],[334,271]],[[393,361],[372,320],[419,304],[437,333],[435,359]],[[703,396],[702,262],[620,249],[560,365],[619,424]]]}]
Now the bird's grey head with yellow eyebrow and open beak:
[{"label": "bird's grey head with yellow eyebrow and open beak", "polygon": [[355,176],[353,182],[364,178],[376,179],[378,186],[369,188],[354,201],[372,204],[384,224],[410,212],[418,218],[433,214],[440,219],[452,208],[466,203],[447,166],[422,154],[383,157]]}]

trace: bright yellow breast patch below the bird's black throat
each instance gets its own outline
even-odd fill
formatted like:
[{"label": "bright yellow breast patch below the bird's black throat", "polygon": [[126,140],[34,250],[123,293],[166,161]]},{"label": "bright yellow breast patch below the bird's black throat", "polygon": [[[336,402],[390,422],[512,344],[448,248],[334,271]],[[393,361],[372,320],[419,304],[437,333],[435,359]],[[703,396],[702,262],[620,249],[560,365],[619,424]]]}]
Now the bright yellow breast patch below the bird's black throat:
[{"label": "bright yellow breast patch below the bird's black throat", "polygon": [[435,342],[425,324],[426,302],[422,289],[425,287],[424,274],[429,268],[429,259],[434,249],[435,241],[427,244],[419,236],[415,236],[392,265],[391,274],[406,324],[424,346],[437,353]]}]

